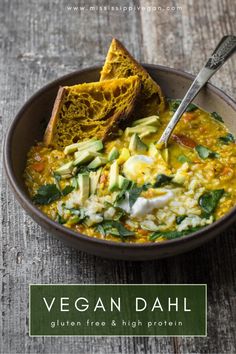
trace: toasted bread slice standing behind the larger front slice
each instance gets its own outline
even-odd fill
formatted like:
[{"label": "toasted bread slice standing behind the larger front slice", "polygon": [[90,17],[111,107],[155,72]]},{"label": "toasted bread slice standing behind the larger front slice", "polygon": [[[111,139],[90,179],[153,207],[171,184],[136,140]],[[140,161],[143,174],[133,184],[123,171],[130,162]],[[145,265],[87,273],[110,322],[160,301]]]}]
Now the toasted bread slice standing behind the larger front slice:
[{"label": "toasted bread slice standing behind the larger front slice", "polygon": [[123,44],[113,38],[101,71],[100,81],[138,75],[141,80],[140,101],[135,109],[136,117],[157,114],[165,108],[160,86],[148,72],[131,56]]}]

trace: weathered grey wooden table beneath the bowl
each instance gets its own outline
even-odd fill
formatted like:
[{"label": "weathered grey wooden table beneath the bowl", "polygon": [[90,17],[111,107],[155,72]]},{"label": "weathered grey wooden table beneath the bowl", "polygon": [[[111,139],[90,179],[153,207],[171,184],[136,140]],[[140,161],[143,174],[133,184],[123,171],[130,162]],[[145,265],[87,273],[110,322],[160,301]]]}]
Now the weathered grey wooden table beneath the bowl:
[{"label": "weathered grey wooden table beneath the bowl", "polygon": [[[234,0],[112,0],[109,5],[120,8],[110,10],[104,8],[107,3],[1,0],[1,141],[33,92],[60,75],[102,63],[113,36],[142,62],[196,74],[220,37],[236,32]],[[70,8],[74,4],[85,8]],[[88,10],[89,6],[102,8]],[[158,6],[162,9],[155,10]],[[168,9],[172,6],[175,9]],[[212,81],[235,95],[235,58]],[[209,244],[172,259],[109,261],[57,241],[21,209],[4,174],[1,186],[2,353],[236,352],[235,226]],[[30,338],[29,283],[207,283],[208,337]]]}]

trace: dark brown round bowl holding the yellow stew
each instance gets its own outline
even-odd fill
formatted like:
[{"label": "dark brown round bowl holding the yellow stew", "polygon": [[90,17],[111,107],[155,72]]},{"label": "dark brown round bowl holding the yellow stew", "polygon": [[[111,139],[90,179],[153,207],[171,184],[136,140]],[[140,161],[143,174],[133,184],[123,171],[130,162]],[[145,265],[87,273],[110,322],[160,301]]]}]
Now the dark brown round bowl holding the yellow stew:
[{"label": "dark brown round bowl holding the yellow stew", "polygon": [[[194,79],[190,74],[159,65],[144,67],[160,84],[167,97],[182,98]],[[114,259],[138,261],[170,257],[198,247],[223,232],[234,222],[236,208],[212,225],[188,236],[163,243],[129,244],[76,233],[49,219],[32,203],[22,178],[26,155],[35,141],[42,139],[59,86],[98,81],[100,70],[100,67],[92,67],[76,71],[44,86],[25,103],[13,120],[5,139],[4,165],[10,185],[22,207],[38,224],[71,246]],[[208,112],[218,112],[228,128],[236,133],[236,102],[225,93],[207,84],[194,102]]]}]

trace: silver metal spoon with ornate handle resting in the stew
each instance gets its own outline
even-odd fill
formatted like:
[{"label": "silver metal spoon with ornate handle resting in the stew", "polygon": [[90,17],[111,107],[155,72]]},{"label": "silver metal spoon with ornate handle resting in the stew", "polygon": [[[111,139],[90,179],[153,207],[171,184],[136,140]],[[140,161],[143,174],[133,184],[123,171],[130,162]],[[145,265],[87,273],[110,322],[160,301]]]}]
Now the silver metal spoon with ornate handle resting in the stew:
[{"label": "silver metal spoon with ornate handle resting in the stew", "polygon": [[204,67],[200,70],[196,79],[193,81],[188,92],[184,96],[181,104],[176,110],[175,114],[171,118],[167,127],[165,128],[160,140],[160,147],[167,146],[168,140],[173,132],[176,124],[186,111],[189,103],[197,96],[201,88],[207,83],[207,81],[216,73],[216,71],[226,62],[226,60],[236,51],[236,36],[224,36],[216,49],[207,60]]}]

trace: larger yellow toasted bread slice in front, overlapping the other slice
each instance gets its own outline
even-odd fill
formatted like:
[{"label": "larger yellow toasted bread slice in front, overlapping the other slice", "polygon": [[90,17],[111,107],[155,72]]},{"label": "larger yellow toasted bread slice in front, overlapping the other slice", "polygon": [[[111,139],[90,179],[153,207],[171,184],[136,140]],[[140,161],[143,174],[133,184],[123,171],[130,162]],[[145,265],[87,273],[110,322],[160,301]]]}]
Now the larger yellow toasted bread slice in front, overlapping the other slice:
[{"label": "larger yellow toasted bread slice in front, overlapping the other slice", "polygon": [[46,146],[105,140],[132,112],[140,93],[138,76],[61,87],[44,134]]}]

